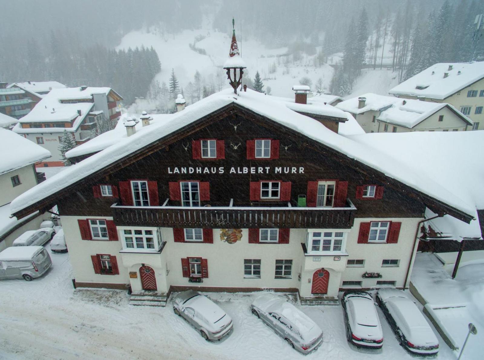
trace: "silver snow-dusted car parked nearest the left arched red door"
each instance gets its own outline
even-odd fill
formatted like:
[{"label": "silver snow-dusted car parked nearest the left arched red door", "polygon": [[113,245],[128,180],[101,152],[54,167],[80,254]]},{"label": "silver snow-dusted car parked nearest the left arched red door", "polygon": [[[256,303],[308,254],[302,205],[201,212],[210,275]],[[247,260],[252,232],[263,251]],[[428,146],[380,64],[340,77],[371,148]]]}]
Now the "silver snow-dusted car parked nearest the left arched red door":
[{"label": "silver snow-dusted car parked nearest the left arched red door", "polygon": [[173,312],[186,319],[205,340],[220,340],[233,329],[232,318],[225,311],[193,290],[173,299]]}]

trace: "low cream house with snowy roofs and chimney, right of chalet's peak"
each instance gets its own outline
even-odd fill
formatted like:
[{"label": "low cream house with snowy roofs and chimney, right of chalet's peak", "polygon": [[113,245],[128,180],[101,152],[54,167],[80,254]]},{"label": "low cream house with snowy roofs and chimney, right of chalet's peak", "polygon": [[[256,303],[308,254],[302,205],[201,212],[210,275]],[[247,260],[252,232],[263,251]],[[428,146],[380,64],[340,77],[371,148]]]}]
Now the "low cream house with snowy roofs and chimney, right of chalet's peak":
[{"label": "low cream house with snowy roofs and chimney, right of chalet's peak", "polygon": [[372,93],[340,102],[365,132],[466,131],[472,120],[454,106]]}]

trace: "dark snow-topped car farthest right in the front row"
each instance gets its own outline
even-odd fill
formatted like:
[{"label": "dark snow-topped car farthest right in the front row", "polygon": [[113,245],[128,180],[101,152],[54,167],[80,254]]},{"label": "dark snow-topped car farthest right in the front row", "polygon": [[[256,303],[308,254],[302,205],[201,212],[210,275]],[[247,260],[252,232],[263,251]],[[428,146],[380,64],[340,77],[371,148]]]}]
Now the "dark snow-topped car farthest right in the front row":
[{"label": "dark snow-topped car farthest right in the front row", "polygon": [[407,294],[397,289],[379,289],[377,303],[400,345],[419,355],[439,352],[439,340]]}]

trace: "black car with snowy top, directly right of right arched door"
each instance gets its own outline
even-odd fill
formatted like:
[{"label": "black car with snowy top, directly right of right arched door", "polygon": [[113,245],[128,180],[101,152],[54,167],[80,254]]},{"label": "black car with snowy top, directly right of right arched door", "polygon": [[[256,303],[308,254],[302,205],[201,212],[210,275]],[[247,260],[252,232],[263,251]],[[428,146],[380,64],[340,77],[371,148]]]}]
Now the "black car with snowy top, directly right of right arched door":
[{"label": "black car with snowy top, directly right of right arched door", "polygon": [[357,347],[379,349],[383,346],[383,331],[377,305],[366,291],[348,290],[341,298],[348,342]]}]

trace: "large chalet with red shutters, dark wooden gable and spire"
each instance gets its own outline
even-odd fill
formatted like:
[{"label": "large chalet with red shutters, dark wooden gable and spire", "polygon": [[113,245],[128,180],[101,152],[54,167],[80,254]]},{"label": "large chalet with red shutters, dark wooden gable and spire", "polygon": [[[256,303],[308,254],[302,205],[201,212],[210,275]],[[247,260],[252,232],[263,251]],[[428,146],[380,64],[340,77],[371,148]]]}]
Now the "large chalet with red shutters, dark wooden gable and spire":
[{"label": "large chalet with red shutters, dark wooden gable and spire", "polygon": [[18,218],[58,205],[76,286],[131,286],[138,304],[189,288],[334,302],[342,288],[408,287],[426,207],[473,219],[331,117],[240,90],[244,67],[234,35],[233,90],[128,129],[15,199]]}]

